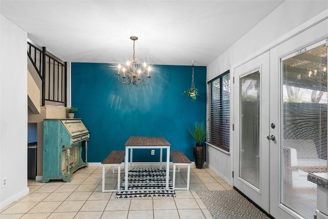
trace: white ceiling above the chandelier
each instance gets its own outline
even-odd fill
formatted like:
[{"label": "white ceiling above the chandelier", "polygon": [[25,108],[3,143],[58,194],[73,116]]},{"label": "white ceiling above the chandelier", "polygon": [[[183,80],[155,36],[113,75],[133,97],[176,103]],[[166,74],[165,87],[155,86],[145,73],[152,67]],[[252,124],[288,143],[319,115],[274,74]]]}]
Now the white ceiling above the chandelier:
[{"label": "white ceiling above the chandelier", "polygon": [[1,1],[1,14],[66,62],[208,65],[282,1]]}]

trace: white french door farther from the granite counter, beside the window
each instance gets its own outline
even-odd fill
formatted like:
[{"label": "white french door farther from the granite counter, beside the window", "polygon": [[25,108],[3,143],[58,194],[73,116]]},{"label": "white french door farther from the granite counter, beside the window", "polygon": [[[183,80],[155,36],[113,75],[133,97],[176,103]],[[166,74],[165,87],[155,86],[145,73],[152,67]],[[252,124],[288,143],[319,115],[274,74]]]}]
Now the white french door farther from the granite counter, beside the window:
[{"label": "white french door farther from the granite counter, beside the window", "polygon": [[234,186],[265,211],[269,211],[269,54],[234,69]]}]

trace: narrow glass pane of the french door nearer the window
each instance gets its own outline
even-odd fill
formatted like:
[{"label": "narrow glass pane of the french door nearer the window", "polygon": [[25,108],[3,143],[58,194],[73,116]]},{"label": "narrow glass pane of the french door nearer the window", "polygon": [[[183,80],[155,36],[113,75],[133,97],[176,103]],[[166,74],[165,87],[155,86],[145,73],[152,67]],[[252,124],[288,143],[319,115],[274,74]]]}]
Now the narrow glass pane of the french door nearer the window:
[{"label": "narrow glass pane of the french door nearer the window", "polygon": [[239,176],[256,188],[260,184],[260,72],[240,78]]}]

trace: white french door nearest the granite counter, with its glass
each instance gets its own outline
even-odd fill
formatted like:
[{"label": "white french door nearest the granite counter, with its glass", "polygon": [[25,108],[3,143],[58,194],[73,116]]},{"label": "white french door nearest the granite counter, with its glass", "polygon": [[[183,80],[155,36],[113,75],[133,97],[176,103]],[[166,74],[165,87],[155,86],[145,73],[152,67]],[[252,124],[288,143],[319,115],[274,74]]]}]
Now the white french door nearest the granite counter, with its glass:
[{"label": "white french door nearest the granite counter, with its glass", "polygon": [[328,43],[301,35],[270,53],[270,120],[279,124],[271,130],[278,141],[270,145],[270,214],[276,218],[313,218],[317,185],[307,175],[327,172]]}]

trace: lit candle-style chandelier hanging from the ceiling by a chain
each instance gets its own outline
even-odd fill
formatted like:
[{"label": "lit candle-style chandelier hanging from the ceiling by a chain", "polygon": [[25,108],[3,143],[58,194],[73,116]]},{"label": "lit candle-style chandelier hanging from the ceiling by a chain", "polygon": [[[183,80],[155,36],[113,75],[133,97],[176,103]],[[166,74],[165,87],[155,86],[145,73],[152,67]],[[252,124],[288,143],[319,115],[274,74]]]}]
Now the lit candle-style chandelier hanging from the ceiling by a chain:
[{"label": "lit candle-style chandelier hanging from the ceiling by a chain", "polygon": [[[150,76],[150,66],[144,63],[144,65],[139,65],[136,63],[135,59],[135,41],[138,39],[136,36],[131,36],[130,39],[133,40],[133,56],[132,61],[127,62],[126,66],[121,66],[121,64],[118,65],[118,71],[116,73],[117,79],[120,83],[125,85],[132,85],[137,86],[140,85],[147,85],[149,83]],[[122,75],[121,75],[122,74]],[[121,79],[120,76],[121,75]],[[146,76],[147,75],[147,76]],[[146,77],[148,78],[146,81]]]}]

